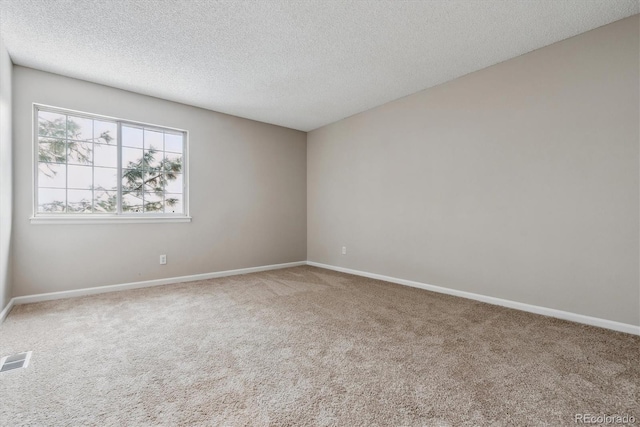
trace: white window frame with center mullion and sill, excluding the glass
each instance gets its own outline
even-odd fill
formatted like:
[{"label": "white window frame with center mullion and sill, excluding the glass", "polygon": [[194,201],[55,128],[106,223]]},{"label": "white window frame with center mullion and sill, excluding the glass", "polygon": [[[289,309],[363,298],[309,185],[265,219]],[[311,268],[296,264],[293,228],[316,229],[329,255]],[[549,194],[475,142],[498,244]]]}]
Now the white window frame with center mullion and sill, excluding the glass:
[{"label": "white window frame with center mullion and sill, excluding the glass", "polygon": [[[118,207],[116,213],[42,213],[38,212],[38,111],[43,110],[52,113],[72,115],[76,117],[85,117],[92,120],[104,120],[116,122],[118,126],[117,144],[118,144],[118,176],[122,176],[122,126],[144,127],[145,129],[157,131],[171,131],[182,133],[183,152],[182,152],[182,204],[183,213],[128,213],[121,211],[122,203],[122,179],[118,178]],[[33,209],[30,218],[31,224],[106,224],[106,223],[163,223],[163,222],[191,222],[189,215],[189,131],[184,129],[173,128],[169,126],[156,125],[151,123],[137,122],[117,117],[104,116],[100,114],[87,113],[84,111],[72,110],[68,108],[55,107],[45,104],[33,103],[32,109],[32,134],[33,134],[33,156],[31,167],[33,170],[33,183],[31,189],[33,191]]]}]

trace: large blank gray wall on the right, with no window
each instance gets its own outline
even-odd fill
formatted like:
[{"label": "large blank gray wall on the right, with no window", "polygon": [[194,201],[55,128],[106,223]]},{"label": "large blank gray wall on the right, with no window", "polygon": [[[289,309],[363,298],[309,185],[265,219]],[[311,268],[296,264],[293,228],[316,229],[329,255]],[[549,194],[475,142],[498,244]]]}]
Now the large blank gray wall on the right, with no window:
[{"label": "large blank gray wall on the right, with no window", "polygon": [[638,32],[310,132],[308,259],[640,325]]}]

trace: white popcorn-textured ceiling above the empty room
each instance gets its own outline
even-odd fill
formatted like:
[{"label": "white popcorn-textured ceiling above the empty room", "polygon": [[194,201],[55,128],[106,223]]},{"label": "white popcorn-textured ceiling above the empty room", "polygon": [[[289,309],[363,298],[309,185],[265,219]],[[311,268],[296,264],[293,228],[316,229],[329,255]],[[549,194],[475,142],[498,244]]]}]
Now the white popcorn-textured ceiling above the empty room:
[{"label": "white popcorn-textured ceiling above the empty room", "polygon": [[0,0],[13,62],[308,131],[639,12],[638,0]]}]

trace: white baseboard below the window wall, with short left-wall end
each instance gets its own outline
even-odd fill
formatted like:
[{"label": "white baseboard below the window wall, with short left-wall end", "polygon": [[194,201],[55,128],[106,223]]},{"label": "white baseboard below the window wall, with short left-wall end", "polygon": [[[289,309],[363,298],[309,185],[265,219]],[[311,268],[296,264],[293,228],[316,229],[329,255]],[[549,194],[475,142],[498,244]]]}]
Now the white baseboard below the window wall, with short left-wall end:
[{"label": "white baseboard below the window wall, with short left-wall end", "polygon": [[[167,279],[145,280],[141,282],[124,283],[121,285],[97,286],[95,288],[74,289],[70,291],[49,292],[44,294],[27,295],[14,297],[9,301],[7,307],[2,311],[2,316],[6,317],[13,305],[31,304],[34,302],[50,301],[63,298],[73,298],[85,295],[103,294],[107,292],[124,291],[127,289],[148,288],[151,286],[169,285],[173,283],[193,282],[196,280],[215,279],[217,277],[236,276],[239,274],[257,273],[259,271],[277,270],[280,268],[297,267],[306,265],[306,261],[288,262],[285,264],[263,265],[259,267],[239,268],[237,270],[217,271],[214,273],[193,274],[190,276],[169,277]],[[5,313],[6,312],[6,313]],[[4,320],[1,318],[0,323]]]}]

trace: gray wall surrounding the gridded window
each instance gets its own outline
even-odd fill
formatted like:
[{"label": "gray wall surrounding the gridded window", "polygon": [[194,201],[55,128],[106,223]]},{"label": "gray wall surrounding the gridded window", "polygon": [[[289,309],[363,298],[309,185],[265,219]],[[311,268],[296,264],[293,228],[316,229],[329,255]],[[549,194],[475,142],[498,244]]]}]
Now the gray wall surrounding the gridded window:
[{"label": "gray wall surrounding the gridded window", "polygon": [[[13,72],[14,296],[306,259],[304,132],[29,68]],[[30,224],[33,102],[188,130],[193,221]]]}]

